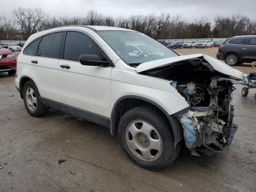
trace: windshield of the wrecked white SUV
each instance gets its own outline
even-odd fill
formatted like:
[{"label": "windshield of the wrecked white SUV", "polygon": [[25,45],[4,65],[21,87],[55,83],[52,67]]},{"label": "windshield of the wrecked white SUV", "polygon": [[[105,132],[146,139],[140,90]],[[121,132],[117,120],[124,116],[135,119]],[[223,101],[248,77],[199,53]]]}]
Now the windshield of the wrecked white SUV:
[{"label": "windshield of the wrecked white SUV", "polygon": [[139,32],[98,31],[97,33],[130,66],[178,56],[157,40]]}]

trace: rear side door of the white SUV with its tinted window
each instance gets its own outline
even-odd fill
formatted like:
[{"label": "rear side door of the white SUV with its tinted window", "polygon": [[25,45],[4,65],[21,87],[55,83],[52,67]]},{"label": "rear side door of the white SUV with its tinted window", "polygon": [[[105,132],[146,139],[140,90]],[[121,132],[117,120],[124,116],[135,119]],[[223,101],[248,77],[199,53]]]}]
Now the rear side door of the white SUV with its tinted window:
[{"label": "rear side door of the white SUV with its tinted window", "polygon": [[29,74],[36,83],[40,96],[54,101],[60,100],[58,63],[63,34],[64,32],[54,32],[38,38],[40,43],[36,56],[28,56],[26,59],[30,64]]}]

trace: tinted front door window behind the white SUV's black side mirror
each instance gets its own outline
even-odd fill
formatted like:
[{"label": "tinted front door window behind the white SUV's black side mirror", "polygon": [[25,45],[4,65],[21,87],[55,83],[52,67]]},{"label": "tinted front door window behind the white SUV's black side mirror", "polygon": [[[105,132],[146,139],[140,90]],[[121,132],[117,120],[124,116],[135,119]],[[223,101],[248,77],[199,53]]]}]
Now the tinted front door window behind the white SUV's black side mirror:
[{"label": "tinted front door window behind the white SUV's black side mirror", "polygon": [[98,55],[100,60],[103,58],[103,51],[89,36],[80,32],[67,32],[64,59],[79,61],[82,54]]}]

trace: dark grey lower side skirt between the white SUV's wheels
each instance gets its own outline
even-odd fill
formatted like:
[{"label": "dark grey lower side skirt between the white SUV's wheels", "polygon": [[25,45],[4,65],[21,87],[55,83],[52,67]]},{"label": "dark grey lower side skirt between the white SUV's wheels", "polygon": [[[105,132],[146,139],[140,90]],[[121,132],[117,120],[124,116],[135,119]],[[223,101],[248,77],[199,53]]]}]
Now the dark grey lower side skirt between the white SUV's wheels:
[{"label": "dark grey lower side skirt between the white SUV's wheels", "polygon": [[96,113],[93,113],[90,111],[76,108],[76,107],[73,107],[73,106],[70,106],[70,105],[67,105],[64,103],[56,102],[54,100],[47,99],[44,97],[41,97],[41,100],[45,106],[54,108],[56,110],[60,110],[62,112],[65,112],[65,113],[68,113],[68,114],[71,114],[71,115],[74,115],[74,116],[77,116],[80,118],[83,118],[85,120],[94,122],[96,124],[99,124],[99,125],[102,125],[105,127],[109,127],[109,124],[108,124],[109,118],[106,116],[102,116],[102,115],[99,115],[99,114],[96,114]]}]

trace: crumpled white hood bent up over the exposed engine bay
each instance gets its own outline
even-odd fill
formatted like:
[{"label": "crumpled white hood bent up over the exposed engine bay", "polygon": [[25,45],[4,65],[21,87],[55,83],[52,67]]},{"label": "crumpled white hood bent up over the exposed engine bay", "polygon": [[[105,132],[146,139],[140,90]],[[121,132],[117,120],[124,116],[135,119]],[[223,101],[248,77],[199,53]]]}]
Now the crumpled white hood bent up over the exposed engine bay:
[{"label": "crumpled white hood bent up over the exposed engine bay", "polygon": [[205,54],[191,54],[191,55],[183,55],[183,56],[176,56],[171,58],[165,58],[165,59],[159,59],[159,60],[153,60],[149,62],[144,62],[136,67],[136,72],[141,73],[145,72],[147,70],[152,70],[154,68],[164,67],[168,65],[172,65],[172,63],[182,61],[182,60],[190,60],[193,58],[204,58],[206,62],[208,62],[212,68],[214,68],[215,71],[220,72],[222,74],[228,75],[230,77],[238,78],[240,80],[243,79],[244,73],[236,70],[226,63],[213,58],[211,56],[205,55]]}]

